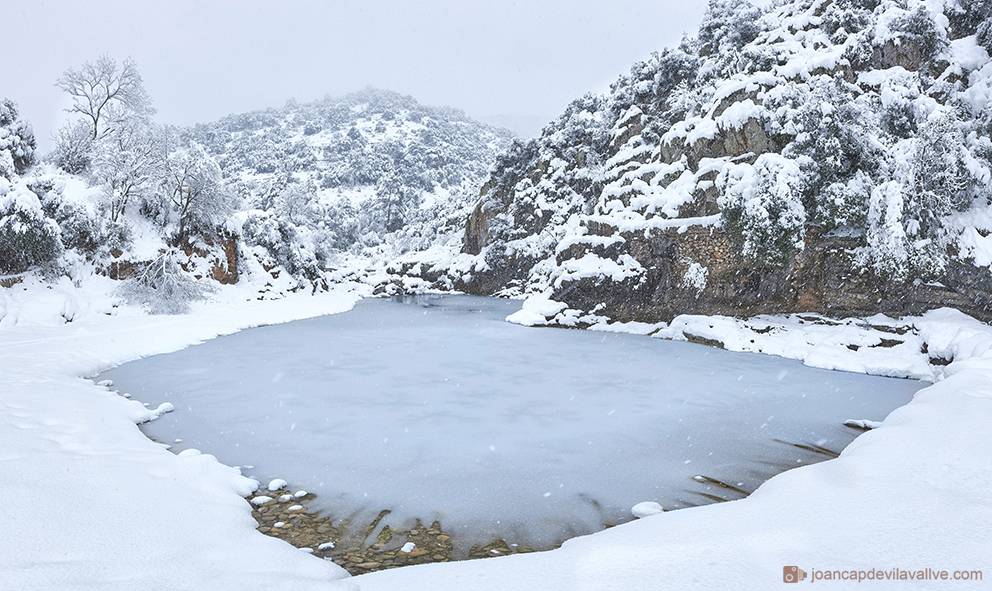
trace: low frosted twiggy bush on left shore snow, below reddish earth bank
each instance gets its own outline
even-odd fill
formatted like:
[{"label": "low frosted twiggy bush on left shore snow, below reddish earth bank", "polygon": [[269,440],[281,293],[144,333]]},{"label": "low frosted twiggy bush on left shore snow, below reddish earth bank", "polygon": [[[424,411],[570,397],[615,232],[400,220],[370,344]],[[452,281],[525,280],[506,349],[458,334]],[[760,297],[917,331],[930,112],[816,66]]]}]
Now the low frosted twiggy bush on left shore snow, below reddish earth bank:
[{"label": "low frosted twiggy bush on left shore snow, below reddish earth bank", "polygon": [[183,271],[177,261],[180,253],[168,249],[117,288],[116,293],[129,304],[145,308],[150,314],[186,314],[190,303],[205,299],[213,288],[196,281]]}]

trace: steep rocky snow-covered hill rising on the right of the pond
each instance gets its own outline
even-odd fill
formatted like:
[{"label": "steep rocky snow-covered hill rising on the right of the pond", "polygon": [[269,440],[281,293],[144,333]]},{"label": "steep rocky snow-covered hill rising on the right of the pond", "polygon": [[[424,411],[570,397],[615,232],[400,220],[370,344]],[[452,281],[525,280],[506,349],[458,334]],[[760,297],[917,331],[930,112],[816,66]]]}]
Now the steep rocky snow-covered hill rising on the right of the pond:
[{"label": "steep rocky snow-covered hill rising on the right of the pond", "polygon": [[515,143],[462,256],[413,272],[619,320],[987,316],[992,8],[777,4],[711,2],[697,37]]}]

